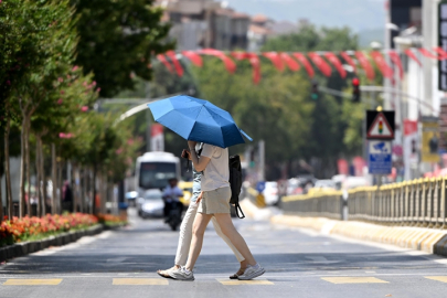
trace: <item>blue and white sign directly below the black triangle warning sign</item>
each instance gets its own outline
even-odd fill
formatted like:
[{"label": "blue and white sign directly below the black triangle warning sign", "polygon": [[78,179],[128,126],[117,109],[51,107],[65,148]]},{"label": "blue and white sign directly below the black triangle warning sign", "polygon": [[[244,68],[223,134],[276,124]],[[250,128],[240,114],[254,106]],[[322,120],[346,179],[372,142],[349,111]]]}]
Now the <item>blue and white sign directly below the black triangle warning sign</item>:
[{"label": "blue and white sign directly below the black triangle warning sign", "polygon": [[390,174],[392,168],[391,141],[370,140],[368,168],[371,174]]}]

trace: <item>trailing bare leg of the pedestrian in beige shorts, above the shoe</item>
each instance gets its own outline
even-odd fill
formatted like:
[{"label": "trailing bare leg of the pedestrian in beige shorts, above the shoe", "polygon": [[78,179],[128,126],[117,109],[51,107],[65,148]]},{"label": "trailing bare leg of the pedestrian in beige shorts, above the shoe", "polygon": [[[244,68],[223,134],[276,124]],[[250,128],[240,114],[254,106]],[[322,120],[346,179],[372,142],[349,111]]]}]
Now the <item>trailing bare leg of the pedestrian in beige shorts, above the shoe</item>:
[{"label": "trailing bare leg of the pedestrian in beige shorts, above the shoe", "polygon": [[236,247],[236,249],[244,256],[245,260],[248,265],[256,265],[256,260],[252,255],[247,244],[245,243],[244,238],[234,227],[232,219],[230,217],[228,213],[216,213],[214,214],[215,219],[217,220],[219,225],[222,228],[222,233],[228,237],[231,243]]}]

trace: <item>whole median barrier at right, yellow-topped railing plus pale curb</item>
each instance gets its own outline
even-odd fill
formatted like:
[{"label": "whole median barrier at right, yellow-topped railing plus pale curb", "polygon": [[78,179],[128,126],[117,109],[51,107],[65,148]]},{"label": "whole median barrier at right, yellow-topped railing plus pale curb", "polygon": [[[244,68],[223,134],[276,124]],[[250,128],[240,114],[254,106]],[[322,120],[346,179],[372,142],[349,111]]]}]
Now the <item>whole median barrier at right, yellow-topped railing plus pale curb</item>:
[{"label": "whole median barrier at right, yellow-topped railing plus pale curb", "polygon": [[341,191],[284,196],[285,215],[270,221],[447,256],[446,179],[349,190],[348,221]]}]

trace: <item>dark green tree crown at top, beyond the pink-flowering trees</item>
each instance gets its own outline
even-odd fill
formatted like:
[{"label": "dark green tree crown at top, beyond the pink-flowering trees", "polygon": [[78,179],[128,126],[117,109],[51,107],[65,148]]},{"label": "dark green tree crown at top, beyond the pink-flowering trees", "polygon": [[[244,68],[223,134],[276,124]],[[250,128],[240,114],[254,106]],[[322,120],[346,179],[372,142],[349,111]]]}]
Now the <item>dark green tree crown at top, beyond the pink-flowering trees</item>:
[{"label": "dark green tree crown at top, beyond the pink-flowering trees", "polygon": [[134,89],[135,73],[150,79],[155,55],[173,49],[167,42],[169,24],[161,23],[162,9],[153,0],[71,0],[78,18],[76,64],[93,72],[100,96]]}]

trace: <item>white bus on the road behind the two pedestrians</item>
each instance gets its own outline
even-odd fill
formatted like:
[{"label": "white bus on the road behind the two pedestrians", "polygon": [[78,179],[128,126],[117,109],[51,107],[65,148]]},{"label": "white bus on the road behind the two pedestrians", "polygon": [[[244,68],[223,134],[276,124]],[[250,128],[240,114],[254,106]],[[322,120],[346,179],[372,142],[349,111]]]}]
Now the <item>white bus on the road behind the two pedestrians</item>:
[{"label": "white bus on the road behind the two pedestrians", "polygon": [[168,180],[177,178],[180,181],[180,159],[169,152],[146,152],[137,158],[135,169],[135,189],[138,198],[151,189],[162,190]]}]

